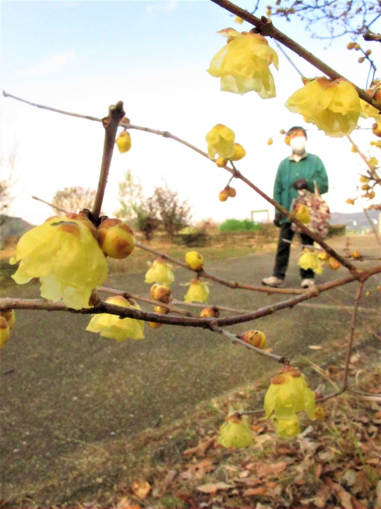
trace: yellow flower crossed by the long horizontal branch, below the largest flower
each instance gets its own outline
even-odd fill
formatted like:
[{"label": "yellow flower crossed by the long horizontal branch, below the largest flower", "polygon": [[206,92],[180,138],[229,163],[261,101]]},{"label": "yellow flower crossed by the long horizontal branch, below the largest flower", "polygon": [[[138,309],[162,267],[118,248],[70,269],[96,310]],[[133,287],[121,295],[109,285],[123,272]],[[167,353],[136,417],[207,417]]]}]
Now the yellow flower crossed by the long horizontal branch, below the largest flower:
[{"label": "yellow flower crossed by the long horizontal branch, below the largest flower", "polygon": [[[109,297],[106,302],[130,309],[141,309],[138,304],[130,303],[121,295]],[[144,322],[135,318],[122,318],[117,315],[100,313],[93,315],[86,327],[89,332],[100,332],[103,337],[110,337],[116,341],[144,340]]]}]

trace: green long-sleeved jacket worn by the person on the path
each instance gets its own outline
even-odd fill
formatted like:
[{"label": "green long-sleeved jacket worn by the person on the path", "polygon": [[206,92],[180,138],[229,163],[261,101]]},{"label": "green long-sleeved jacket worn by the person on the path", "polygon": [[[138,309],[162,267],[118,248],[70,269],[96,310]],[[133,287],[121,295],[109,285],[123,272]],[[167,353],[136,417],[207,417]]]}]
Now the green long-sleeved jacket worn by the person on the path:
[{"label": "green long-sleeved jacket worn by the person on the path", "polygon": [[[306,179],[309,191],[314,191],[313,181],[316,181],[320,194],[328,191],[328,176],[320,157],[307,154],[299,162],[290,157],[283,159],[275,177],[274,200],[287,210],[298,196],[298,191],[293,188],[293,183],[298,179]],[[275,213],[278,211],[275,210]],[[290,221],[283,216],[281,222]]]}]

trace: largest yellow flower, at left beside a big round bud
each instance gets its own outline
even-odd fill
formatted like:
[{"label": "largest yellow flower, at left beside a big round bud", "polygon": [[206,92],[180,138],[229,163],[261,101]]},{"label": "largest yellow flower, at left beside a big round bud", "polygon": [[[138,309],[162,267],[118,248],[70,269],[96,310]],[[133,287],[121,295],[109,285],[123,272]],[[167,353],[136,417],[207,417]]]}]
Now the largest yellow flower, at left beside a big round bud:
[{"label": "largest yellow flower, at left beside a big round bud", "polygon": [[89,298],[107,277],[107,262],[84,221],[56,217],[26,232],[18,241],[13,265],[18,285],[39,277],[41,297],[74,309],[91,307]]}]

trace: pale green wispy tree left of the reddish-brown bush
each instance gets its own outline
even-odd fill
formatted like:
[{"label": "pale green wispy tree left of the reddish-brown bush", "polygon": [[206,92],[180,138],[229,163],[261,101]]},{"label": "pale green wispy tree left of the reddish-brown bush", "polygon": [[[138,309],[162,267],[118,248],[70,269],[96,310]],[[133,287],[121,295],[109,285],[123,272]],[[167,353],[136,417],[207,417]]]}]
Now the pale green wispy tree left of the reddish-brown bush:
[{"label": "pale green wispy tree left of the reddish-brown bush", "polygon": [[[120,208],[115,211],[116,217],[124,221],[137,218],[136,210],[142,209],[144,195],[140,179],[134,179],[131,169],[128,169],[124,173],[123,180],[118,182],[118,201]],[[146,212],[149,212],[148,209]]]}]

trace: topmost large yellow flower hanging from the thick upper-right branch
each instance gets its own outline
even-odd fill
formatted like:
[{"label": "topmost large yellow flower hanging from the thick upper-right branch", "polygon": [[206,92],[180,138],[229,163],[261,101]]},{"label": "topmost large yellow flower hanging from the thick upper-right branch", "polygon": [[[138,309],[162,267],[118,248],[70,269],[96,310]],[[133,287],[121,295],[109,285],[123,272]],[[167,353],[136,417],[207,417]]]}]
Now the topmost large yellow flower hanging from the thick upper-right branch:
[{"label": "topmost large yellow flower hanging from the thick upper-right branch", "polygon": [[263,99],[275,97],[269,65],[278,69],[278,55],[267,40],[259,34],[239,33],[232,28],[218,34],[227,37],[228,44],[213,57],[208,73],[221,78],[221,90],[241,95],[253,90]]}]

